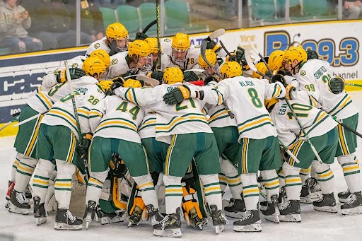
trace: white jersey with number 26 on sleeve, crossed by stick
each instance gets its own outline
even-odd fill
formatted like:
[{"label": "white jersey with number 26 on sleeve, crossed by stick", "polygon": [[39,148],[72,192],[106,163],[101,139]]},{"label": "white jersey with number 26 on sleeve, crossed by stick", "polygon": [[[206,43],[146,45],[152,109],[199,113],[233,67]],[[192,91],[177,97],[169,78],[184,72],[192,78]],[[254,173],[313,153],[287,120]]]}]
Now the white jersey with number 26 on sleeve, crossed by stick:
[{"label": "white jersey with number 26 on sleeve, crossed by stick", "polygon": [[[103,98],[105,98],[103,90],[94,83],[91,85],[83,84],[82,87],[74,90],[74,99],[76,101],[81,133],[91,132],[91,127],[89,126],[88,121],[89,112]],[[54,103],[52,109],[50,109],[49,112],[47,112],[47,114],[45,114],[42,118],[42,123],[49,126],[61,125],[68,127],[74,132],[79,141],[78,128],[76,118],[74,117],[74,108],[70,94]]]}]

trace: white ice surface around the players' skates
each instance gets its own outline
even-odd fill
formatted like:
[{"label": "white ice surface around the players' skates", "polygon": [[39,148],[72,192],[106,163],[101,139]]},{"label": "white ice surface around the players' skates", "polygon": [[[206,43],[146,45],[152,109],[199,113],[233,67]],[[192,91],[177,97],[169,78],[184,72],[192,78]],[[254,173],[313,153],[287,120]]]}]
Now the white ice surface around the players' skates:
[{"label": "white ice surface around the players' skates", "polygon": [[[352,97],[362,113],[362,92],[352,92]],[[362,133],[362,116],[358,132]],[[5,194],[8,187],[8,179],[11,176],[11,165],[15,158],[13,142],[15,136],[0,138],[0,241],[2,240],[164,240],[163,237],[153,237],[149,223],[141,223],[139,226],[127,228],[127,223],[115,223],[112,225],[100,225],[91,223],[88,230],[56,231],[53,229],[55,213],[49,214],[48,221],[37,227],[33,217],[33,209],[28,216],[8,213],[4,208]],[[358,139],[358,159],[362,160],[362,140]],[[337,160],[332,165],[334,172],[334,194],[346,189],[341,167]],[[226,192],[224,199],[230,198],[230,192]],[[337,204],[340,206],[341,204]],[[32,206],[33,208],[33,206]],[[214,233],[212,224],[206,225],[204,230],[194,230],[182,223],[182,238],[179,240],[362,240],[362,215],[341,216],[341,213],[321,213],[313,210],[312,204],[301,204],[301,223],[269,223],[262,217],[261,233],[235,233],[233,221],[229,218],[226,231],[220,235]],[[83,213],[83,210],[79,211]],[[79,217],[79,216],[78,216]],[[13,237],[6,238],[6,236]]]}]

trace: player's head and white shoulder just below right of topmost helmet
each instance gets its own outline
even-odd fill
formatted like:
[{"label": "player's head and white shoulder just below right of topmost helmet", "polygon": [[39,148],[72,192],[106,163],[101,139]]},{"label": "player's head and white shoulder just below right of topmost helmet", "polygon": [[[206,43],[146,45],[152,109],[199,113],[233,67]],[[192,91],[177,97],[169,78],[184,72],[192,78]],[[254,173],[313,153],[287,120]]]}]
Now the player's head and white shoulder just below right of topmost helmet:
[{"label": "player's head and white shoulder just below right of topmost helmet", "polygon": [[128,52],[120,52],[111,57],[107,79],[134,74],[147,74],[152,69],[151,48],[144,40],[129,43]]}]

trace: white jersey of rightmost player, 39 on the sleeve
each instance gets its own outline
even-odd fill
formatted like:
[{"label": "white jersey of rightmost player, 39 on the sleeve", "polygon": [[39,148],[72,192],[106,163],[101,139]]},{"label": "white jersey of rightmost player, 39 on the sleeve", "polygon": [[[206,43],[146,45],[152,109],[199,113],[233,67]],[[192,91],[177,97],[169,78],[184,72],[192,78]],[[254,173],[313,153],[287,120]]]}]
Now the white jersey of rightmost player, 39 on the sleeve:
[{"label": "white jersey of rightmost player, 39 on the sleeve", "polygon": [[328,83],[333,78],[333,71],[327,61],[310,59],[294,77],[297,81],[292,81],[293,86],[308,91],[317,102],[320,102],[325,112],[337,119],[345,119],[358,112],[349,94],[343,91],[335,95],[329,90]]}]

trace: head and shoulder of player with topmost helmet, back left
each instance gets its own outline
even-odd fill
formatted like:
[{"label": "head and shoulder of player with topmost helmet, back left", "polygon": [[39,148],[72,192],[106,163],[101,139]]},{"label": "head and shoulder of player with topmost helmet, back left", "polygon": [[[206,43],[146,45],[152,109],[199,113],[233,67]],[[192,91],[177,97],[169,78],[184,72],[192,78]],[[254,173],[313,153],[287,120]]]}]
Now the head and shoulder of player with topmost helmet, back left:
[{"label": "head and shoulder of player with topmost helmet, back left", "polygon": [[107,26],[105,37],[89,45],[86,56],[88,57],[95,49],[104,49],[110,55],[117,52],[124,52],[127,51],[128,44],[129,35],[124,25],[121,23],[112,23]]}]

